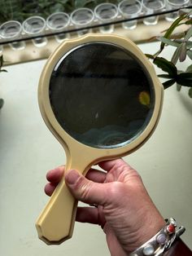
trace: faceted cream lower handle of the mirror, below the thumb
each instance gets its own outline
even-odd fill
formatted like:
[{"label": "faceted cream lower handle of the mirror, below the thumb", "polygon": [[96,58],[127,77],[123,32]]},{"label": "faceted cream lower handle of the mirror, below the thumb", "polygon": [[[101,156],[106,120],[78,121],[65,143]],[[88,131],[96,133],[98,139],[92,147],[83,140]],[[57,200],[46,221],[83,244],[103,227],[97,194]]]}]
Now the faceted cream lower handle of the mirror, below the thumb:
[{"label": "faceted cream lower handle of the mirror, below the thumb", "polygon": [[69,192],[64,179],[55,189],[46,208],[37,219],[38,236],[47,245],[59,245],[72,237],[77,201]]}]

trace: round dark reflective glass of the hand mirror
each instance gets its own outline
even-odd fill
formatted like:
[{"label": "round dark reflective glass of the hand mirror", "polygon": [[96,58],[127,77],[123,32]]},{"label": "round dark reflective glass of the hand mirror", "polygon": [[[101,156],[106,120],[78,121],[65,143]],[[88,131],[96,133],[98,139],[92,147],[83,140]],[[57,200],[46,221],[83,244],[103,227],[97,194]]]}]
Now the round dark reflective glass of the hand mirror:
[{"label": "round dark reflective glass of the hand mirror", "polygon": [[50,104],[72,138],[94,148],[119,148],[146,129],[155,95],[136,56],[93,42],[59,60],[50,77]]}]

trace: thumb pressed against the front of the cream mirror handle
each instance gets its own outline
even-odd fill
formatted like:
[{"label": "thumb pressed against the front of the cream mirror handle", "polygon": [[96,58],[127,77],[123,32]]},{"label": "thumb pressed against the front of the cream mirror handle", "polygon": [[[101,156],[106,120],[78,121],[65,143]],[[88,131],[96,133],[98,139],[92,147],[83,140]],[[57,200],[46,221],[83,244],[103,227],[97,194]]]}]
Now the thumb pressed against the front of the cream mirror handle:
[{"label": "thumb pressed against the front of the cream mirror handle", "polygon": [[65,174],[65,182],[79,201],[95,205],[104,205],[107,201],[107,183],[94,183],[76,170],[69,170]]}]

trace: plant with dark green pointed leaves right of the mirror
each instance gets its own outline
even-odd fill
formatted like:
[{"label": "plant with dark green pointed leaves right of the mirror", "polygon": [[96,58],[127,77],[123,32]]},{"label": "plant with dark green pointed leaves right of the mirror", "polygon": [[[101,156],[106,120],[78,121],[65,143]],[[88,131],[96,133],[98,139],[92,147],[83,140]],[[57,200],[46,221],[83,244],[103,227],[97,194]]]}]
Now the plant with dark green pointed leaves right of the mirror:
[{"label": "plant with dark green pointed leaves right of the mirror", "polygon": [[[174,84],[177,85],[177,90],[181,90],[182,86],[189,87],[188,94],[192,98],[192,64],[190,64],[185,70],[177,68],[177,62],[184,62],[186,58],[192,60],[192,11],[184,9],[181,11],[181,15],[175,20],[168,30],[164,33],[163,37],[157,38],[160,43],[159,51],[154,55],[146,54],[146,56],[153,60],[158,68],[164,73],[159,74],[159,77],[166,79],[163,82],[164,89]],[[183,33],[175,33],[178,26],[187,25]],[[176,48],[172,55],[172,60],[166,60],[159,55],[164,51],[165,46],[173,46]]]}]

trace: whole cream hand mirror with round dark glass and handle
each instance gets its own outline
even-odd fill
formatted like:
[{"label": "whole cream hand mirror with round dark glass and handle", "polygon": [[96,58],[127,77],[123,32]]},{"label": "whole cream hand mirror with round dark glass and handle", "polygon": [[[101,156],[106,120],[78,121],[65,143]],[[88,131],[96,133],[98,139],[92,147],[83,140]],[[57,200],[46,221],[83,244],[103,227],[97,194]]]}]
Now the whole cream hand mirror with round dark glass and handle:
[{"label": "whole cream hand mirror with round dark glass and handle", "polygon": [[[98,161],[123,157],[155,130],[163,86],[131,41],[88,35],[63,42],[41,73],[41,115],[66,152],[66,171],[86,174]],[[47,244],[72,236],[77,202],[64,179],[37,219]]]}]

